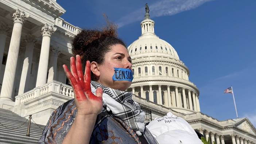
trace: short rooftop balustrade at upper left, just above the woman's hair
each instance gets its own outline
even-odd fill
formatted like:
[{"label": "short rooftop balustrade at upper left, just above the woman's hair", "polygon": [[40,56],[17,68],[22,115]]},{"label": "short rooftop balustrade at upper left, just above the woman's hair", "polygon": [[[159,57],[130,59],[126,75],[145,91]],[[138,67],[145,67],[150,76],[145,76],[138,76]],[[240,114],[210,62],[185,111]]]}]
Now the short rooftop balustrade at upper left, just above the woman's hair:
[{"label": "short rooftop balustrade at upper left, just above the woman's hair", "polygon": [[72,24],[62,19],[61,17],[58,17],[57,19],[55,19],[55,25],[59,26],[65,31],[70,32],[73,35],[77,35],[81,31],[79,27],[73,26]]}]

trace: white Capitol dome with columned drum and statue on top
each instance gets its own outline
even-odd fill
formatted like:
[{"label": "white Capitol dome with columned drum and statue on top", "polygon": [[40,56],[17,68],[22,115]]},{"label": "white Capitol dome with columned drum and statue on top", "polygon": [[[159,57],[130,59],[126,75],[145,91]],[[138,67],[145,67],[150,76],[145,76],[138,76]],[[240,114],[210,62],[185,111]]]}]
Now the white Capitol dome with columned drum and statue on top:
[{"label": "white Capitol dome with columned drum and statue on top", "polygon": [[181,113],[200,112],[199,90],[189,81],[189,69],[171,44],[155,34],[155,22],[150,19],[148,7],[140,25],[141,36],[128,46],[134,72],[128,91],[133,92],[137,101],[145,100],[153,107],[164,106]]}]

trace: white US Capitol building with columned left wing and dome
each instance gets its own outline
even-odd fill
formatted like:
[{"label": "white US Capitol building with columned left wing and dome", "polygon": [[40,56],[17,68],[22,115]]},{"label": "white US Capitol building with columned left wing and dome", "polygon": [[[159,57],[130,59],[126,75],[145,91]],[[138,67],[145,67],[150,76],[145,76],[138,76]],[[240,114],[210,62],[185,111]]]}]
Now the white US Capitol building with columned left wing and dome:
[{"label": "white US Capitol building with columned left wing and dome", "polygon": [[[65,12],[55,0],[0,1],[1,113],[32,115],[36,124],[46,125],[58,106],[74,98],[62,65],[69,66],[71,40],[81,29],[60,17]],[[141,36],[128,47],[134,79],[127,90],[145,110],[146,121],[171,111],[211,143],[256,144],[248,118],[219,121],[200,112],[199,90],[189,81],[188,67],[155,34],[154,25],[146,5]],[[0,123],[3,141],[6,127]]]}]

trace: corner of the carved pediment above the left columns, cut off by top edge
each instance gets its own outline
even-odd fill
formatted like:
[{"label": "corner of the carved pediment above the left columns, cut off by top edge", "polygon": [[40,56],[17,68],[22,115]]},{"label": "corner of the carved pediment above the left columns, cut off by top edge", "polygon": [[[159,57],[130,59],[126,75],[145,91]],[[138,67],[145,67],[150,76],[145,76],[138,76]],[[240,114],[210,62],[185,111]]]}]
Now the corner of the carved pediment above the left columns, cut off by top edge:
[{"label": "corner of the carved pediment above the left columns, cut off by top edge", "polygon": [[44,13],[56,18],[61,16],[63,13],[66,12],[64,8],[61,7],[56,1],[54,0],[22,0],[25,3],[32,5],[33,7],[41,10]]}]

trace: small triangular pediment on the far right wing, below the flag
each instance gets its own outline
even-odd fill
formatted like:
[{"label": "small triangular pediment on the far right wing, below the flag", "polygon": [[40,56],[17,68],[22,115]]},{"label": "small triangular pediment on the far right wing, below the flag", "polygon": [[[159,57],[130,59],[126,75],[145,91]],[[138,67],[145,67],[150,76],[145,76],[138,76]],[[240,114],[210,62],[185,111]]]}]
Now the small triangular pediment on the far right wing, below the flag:
[{"label": "small triangular pediment on the far right wing, below the flag", "polygon": [[252,123],[248,120],[248,118],[243,118],[242,120],[237,121],[235,124],[235,127],[256,136],[256,129],[252,125]]}]

